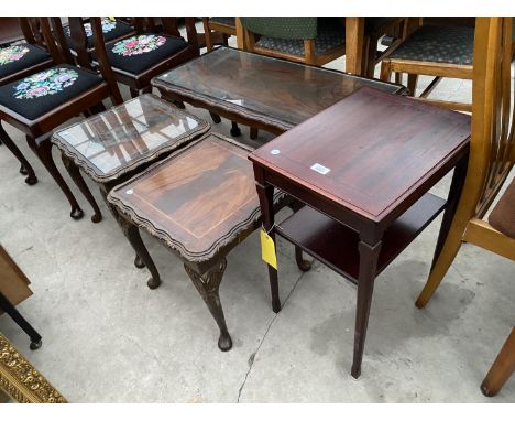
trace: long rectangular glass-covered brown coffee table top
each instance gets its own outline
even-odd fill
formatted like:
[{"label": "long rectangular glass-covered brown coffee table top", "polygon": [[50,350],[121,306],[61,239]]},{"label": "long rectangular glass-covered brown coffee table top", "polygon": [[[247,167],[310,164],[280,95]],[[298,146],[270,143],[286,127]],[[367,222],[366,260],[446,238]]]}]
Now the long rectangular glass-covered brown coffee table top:
[{"label": "long rectangular glass-covered brown coffee table top", "polygon": [[401,85],[219,47],[152,79],[171,91],[251,120],[289,130],[362,86],[403,93]]}]

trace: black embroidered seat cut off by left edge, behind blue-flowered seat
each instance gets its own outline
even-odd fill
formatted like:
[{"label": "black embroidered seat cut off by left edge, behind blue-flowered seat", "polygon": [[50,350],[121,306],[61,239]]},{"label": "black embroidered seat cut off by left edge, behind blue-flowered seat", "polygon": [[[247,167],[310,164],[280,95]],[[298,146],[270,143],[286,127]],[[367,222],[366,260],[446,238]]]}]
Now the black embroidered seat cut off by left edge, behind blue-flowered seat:
[{"label": "black embroidered seat cut off by left edge, behind blue-flowered seat", "polygon": [[21,43],[1,47],[0,79],[50,60],[48,53],[36,45]]}]

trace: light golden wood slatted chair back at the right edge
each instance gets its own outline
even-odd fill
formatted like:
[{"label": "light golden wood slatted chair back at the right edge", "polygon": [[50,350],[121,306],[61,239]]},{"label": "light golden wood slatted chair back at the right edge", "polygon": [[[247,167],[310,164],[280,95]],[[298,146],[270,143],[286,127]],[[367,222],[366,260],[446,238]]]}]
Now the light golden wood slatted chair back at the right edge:
[{"label": "light golden wood slatted chair back at the right edge", "polygon": [[512,18],[476,18],[474,36],[472,136],[463,191],[470,192],[470,217],[481,217],[513,166]]}]

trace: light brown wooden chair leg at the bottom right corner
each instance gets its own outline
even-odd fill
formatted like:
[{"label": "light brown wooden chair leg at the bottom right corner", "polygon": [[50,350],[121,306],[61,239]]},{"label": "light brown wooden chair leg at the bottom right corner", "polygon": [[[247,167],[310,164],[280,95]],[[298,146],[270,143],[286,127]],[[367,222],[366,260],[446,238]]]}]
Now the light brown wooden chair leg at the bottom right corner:
[{"label": "light brown wooden chair leg at the bottom right corner", "polygon": [[489,397],[497,395],[513,371],[515,371],[515,327],[512,328],[512,333],[481,384],[483,395]]}]

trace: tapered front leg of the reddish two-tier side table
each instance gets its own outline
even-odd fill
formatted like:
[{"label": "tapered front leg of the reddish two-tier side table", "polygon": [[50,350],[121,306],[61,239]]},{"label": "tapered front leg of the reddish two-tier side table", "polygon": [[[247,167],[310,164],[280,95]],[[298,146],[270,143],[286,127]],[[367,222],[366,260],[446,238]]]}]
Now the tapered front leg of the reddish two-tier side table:
[{"label": "tapered front leg of the reddish two-tier side table", "polygon": [[354,356],[351,375],[354,378],[361,375],[361,361],[369,325],[370,304],[374,291],[374,279],[377,268],[377,257],[381,251],[381,241],[369,245],[360,241],[360,274],[358,279],[358,303],[355,307]]}]

